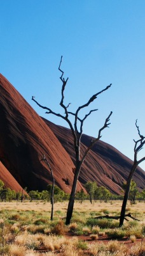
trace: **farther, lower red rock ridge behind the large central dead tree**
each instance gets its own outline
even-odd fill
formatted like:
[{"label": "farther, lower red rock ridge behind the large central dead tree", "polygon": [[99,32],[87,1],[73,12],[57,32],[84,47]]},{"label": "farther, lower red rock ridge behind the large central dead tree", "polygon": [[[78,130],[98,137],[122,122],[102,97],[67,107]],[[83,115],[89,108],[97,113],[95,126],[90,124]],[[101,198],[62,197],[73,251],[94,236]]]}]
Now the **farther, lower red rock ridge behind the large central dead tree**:
[{"label": "farther, lower red rock ridge behind the large central dead tree", "polygon": [[[55,136],[62,143],[66,151],[74,161],[74,148],[71,130],[64,128],[60,125],[55,125],[45,118],[46,124],[52,129]],[[81,137],[81,148],[84,152],[85,148],[90,145],[92,137],[83,134]],[[95,181],[99,186],[104,186],[112,193],[121,193],[123,182],[127,180],[128,173],[132,166],[132,161],[124,156],[111,145],[98,141],[95,146],[90,150],[88,156],[83,163],[79,175],[81,184],[85,184],[88,180]],[[145,187],[145,172],[137,167],[133,179],[137,183],[138,188],[144,189]]]}]

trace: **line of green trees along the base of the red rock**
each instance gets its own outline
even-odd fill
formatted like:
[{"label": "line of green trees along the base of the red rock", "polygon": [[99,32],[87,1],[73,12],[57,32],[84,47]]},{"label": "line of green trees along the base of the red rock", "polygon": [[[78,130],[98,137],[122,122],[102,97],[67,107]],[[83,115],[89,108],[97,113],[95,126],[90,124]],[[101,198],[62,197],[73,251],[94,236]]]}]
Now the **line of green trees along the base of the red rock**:
[{"label": "line of green trees along the base of the red rock", "polygon": [[[125,191],[127,184],[123,184],[123,190]],[[96,202],[99,200],[100,202],[108,202],[109,200],[122,200],[123,195],[114,195],[104,186],[97,186],[96,182],[88,181],[85,184],[85,193],[83,189],[78,191],[75,196],[75,200],[83,203],[84,200],[90,200],[90,204],[92,202]],[[27,190],[25,188],[24,190]],[[46,190],[38,191],[31,190],[27,192],[28,195],[23,195],[24,200],[33,201],[44,201],[51,202],[51,193],[52,193],[52,185],[49,184]],[[65,193],[58,186],[54,186],[54,203],[56,202],[64,202],[69,200],[69,194]],[[128,196],[130,200],[130,204],[135,204],[136,200],[144,200],[145,202],[145,188],[139,192],[137,188],[137,184],[132,180],[130,184],[130,193]],[[16,192],[13,189],[5,188],[4,182],[0,180],[0,200],[1,202],[10,202],[12,200],[22,201],[22,191]]]}]

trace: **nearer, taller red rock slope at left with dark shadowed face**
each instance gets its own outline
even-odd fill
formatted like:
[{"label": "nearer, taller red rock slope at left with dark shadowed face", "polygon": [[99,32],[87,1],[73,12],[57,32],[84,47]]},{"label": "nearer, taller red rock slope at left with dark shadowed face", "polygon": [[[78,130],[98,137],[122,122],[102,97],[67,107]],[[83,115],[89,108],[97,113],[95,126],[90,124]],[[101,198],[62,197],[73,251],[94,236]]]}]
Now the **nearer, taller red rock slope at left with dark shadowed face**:
[{"label": "nearer, taller red rock slope at left with dark shadowed face", "polygon": [[[55,184],[70,193],[74,164],[69,154],[48,125],[1,74],[0,95],[1,162],[22,188],[41,190],[52,183],[48,166],[40,161],[45,154]],[[78,182],[78,190],[81,188]]]}]

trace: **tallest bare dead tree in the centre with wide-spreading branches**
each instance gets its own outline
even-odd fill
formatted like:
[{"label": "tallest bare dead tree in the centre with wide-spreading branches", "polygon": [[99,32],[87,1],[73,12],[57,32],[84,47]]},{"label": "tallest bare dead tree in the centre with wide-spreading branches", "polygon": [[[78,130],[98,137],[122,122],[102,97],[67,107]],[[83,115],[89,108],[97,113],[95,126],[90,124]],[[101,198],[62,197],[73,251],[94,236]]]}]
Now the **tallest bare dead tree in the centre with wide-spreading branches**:
[{"label": "tallest bare dead tree in the centre with wide-spreading branches", "polygon": [[[74,170],[74,179],[72,182],[72,189],[71,189],[71,195],[69,198],[69,204],[67,207],[67,216],[66,216],[66,225],[69,225],[70,221],[71,221],[71,217],[72,217],[72,212],[73,212],[73,207],[74,207],[74,198],[75,198],[75,193],[76,193],[76,187],[77,187],[77,183],[78,183],[78,177],[79,177],[79,173],[81,170],[81,166],[83,164],[83,161],[85,160],[86,155],[88,154],[88,152],[90,151],[90,149],[93,147],[93,145],[95,145],[95,143],[97,143],[97,141],[100,140],[101,138],[101,132],[102,130],[104,130],[106,127],[109,127],[109,118],[112,115],[112,111],[111,113],[109,113],[109,116],[107,116],[104,125],[99,129],[99,132],[97,134],[97,138],[95,138],[94,140],[91,141],[90,146],[86,149],[85,154],[83,154],[82,157],[80,157],[80,148],[81,148],[81,135],[83,133],[83,124],[84,121],[86,120],[86,118],[93,112],[93,111],[97,111],[98,109],[93,109],[91,110],[88,114],[86,114],[84,116],[84,118],[79,118],[79,111],[81,111],[81,109],[86,108],[90,105],[90,103],[93,102],[93,100],[97,99],[97,96],[100,95],[102,92],[105,92],[106,90],[108,90],[111,87],[111,84],[109,84],[109,86],[107,86],[106,88],[104,88],[103,90],[101,90],[98,93],[95,93],[89,100],[88,102],[86,102],[86,104],[79,106],[78,109],[76,109],[76,113],[72,113],[70,111],[68,111],[69,108],[69,104],[65,105],[64,104],[64,90],[66,88],[66,84],[68,81],[68,77],[67,79],[64,79],[64,72],[60,69],[62,63],[62,56],[61,56],[61,60],[60,60],[60,65],[59,65],[59,71],[62,73],[62,75],[60,76],[60,80],[62,81],[62,98],[60,100],[60,106],[64,109],[64,115],[61,115],[60,113],[55,113],[54,111],[52,111],[52,109],[47,108],[45,106],[42,106],[41,104],[39,104],[36,99],[34,99],[34,97],[32,97],[32,100],[34,100],[34,102],[36,102],[36,104],[38,104],[39,107],[46,109],[46,113],[47,114],[53,114],[55,116],[59,116],[62,119],[66,120],[66,122],[69,124],[69,127],[71,129],[72,132],[72,136],[74,139],[74,150],[75,150],[75,170]],[[74,116],[74,126],[72,125],[71,121],[69,120],[69,116]],[[79,122],[79,125],[78,125]]]}]

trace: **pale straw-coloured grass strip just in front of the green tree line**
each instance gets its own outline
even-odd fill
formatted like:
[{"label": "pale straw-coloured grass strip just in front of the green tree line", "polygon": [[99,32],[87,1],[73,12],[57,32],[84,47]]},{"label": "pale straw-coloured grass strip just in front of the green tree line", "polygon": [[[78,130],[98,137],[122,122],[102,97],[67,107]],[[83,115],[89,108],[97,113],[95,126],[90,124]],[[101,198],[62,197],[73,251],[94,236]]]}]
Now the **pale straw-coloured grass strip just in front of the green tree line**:
[{"label": "pale straw-coloured grass strip just in front of the green tree line", "polygon": [[[62,211],[62,213],[65,213],[67,211],[67,204],[68,202],[57,202],[54,205],[54,211]],[[1,202],[1,210],[3,209],[17,209],[20,211],[39,211],[39,212],[51,212],[52,205],[50,202],[45,203],[44,202]],[[80,209],[81,208],[81,209]],[[137,212],[144,212],[144,202],[137,202],[137,204],[130,205],[130,202],[127,204],[127,208],[130,212],[134,212],[136,214]],[[102,209],[106,209],[106,211],[109,211],[109,214],[111,212],[120,212],[121,209],[121,201],[113,201],[111,203],[100,203],[100,202],[93,202],[93,204],[90,204],[89,201],[83,202],[83,204],[79,204],[79,202],[74,203],[74,211],[80,212],[102,212]]]}]

